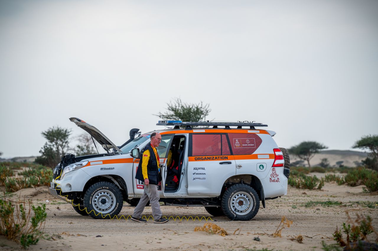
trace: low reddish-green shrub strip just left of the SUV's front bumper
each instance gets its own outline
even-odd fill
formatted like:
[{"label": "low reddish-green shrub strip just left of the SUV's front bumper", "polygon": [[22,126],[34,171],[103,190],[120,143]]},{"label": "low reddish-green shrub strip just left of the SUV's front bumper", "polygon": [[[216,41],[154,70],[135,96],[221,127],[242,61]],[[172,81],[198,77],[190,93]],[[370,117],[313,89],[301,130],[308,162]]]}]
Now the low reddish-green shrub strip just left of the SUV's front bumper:
[{"label": "low reddish-green shrub strip just left of the SUV's front bumper", "polygon": [[6,192],[15,192],[23,188],[31,188],[37,186],[50,186],[50,182],[53,179],[53,170],[43,169],[38,173],[23,178],[9,178],[5,182]]}]

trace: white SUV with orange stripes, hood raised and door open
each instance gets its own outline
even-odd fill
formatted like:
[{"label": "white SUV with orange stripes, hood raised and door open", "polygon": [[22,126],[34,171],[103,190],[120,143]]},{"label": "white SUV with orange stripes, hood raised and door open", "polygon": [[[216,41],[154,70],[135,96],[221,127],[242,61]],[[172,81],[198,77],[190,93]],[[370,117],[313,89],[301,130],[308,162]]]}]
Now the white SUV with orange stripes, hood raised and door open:
[{"label": "white SUV with orange stripes, hood raised and door open", "polygon": [[152,132],[162,138],[157,148],[162,176],[158,189],[165,205],[204,206],[212,216],[250,220],[260,201],[265,208],[266,200],[287,193],[289,156],[274,142],[275,132],[256,129],[266,126],[261,123],[159,121],[156,125],[172,128],[136,138],[140,132],[132,129],[130,139],[118,147],[94,126],[70,120],[107,151],[71,158],[54,169],[51,194],[79,204],[74,206],[79,214],[113,218],[123,201],[138,204],[143,183],[135,179],[136,168]]}]

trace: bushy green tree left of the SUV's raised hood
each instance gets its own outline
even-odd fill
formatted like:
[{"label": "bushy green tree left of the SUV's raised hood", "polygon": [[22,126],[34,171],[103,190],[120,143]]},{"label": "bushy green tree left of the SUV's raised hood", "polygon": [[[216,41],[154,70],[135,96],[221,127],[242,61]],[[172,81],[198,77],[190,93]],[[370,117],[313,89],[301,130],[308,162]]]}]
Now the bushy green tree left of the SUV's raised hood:
[{"label": "bushy green tree left of the SUV's raised hood", "polygon": [[42,156],[37,157],[35,162],[53,168],[60,162],[69,149],[68,139],[71,135],[71,130],[56,126],[49,128],[41,134],[47,142],[39,151]]}]

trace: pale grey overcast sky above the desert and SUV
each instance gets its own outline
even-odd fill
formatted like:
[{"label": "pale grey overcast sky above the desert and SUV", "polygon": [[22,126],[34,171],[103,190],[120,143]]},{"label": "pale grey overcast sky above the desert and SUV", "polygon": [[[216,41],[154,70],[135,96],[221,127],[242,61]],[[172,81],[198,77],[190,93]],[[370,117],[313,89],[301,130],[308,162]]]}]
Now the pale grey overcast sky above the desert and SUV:
[{"label": "pale grey overcast sky above the desert and SUV", "polygon": [[[0,152],[52,126],[114,143],[166,103],[269,125],[280,147],[351,149],[378,133],[378,1],[0,0]],[[75,142],[72,142],[72,145]]]}]

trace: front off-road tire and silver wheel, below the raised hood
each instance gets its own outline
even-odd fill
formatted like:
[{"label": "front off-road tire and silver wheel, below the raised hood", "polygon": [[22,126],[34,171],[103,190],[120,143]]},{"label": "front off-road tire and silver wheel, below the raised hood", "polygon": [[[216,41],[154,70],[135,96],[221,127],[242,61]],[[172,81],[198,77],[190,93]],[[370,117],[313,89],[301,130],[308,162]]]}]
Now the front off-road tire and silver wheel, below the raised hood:
[{"label": "front off-road tire and silver wheel, below the raised hood", "polygon": [[84,194],[84,206],[93,219],[113,219],[121,212],[122,205],[121,190],[110,182],[95,183]]}]

